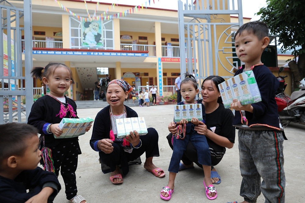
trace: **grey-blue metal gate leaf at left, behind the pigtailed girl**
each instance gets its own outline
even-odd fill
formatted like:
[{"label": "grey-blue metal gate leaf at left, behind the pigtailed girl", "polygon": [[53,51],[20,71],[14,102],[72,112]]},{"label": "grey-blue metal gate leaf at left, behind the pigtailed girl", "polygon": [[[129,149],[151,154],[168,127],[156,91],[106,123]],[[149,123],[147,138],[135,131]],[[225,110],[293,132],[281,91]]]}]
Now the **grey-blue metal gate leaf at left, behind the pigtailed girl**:
[{"label": "grey-blue metal gate leaf at left, behind the pigtailed girl", "polygon": [[[33,104],[31,0],[24,0],[23,8],[0,0],[0,16],[0,98],[3,98],[0,123],[26,123]],[[24,54],[21,51],[22,36]]]}]

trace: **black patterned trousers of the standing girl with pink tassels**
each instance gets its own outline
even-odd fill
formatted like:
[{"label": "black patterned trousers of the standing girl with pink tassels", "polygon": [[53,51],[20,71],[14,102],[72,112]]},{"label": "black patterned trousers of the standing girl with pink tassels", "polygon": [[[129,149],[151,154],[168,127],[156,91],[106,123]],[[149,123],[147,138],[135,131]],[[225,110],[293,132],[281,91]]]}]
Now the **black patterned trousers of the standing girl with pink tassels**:
[{"label": "black patterned trousers of the standing girl with pink tassels", "polygon": [[78,141],[63,142],[51,147],[55,174],[58,177],[59,170],[66,187],[68,200],[77,194],[75,171],[78,159]]}]

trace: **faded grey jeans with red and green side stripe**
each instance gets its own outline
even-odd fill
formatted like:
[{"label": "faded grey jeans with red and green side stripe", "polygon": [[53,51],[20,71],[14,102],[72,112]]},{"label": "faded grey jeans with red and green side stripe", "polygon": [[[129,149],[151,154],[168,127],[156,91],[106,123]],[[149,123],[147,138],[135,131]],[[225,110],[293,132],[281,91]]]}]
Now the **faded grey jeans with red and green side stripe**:
[{"label": "faded grey jeans with red and green side stripe", "polygon": [[238,141],[240,196],[255,203],[262,192],[266,203],[285,202],[282,131],[239,129]]}]

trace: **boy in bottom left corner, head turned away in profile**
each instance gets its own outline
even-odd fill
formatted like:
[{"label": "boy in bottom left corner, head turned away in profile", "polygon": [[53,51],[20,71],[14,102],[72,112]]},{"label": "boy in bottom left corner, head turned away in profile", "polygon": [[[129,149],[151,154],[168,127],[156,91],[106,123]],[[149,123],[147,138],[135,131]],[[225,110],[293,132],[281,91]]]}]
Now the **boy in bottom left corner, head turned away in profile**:
[{"label": "boy in bottom left corner, head turned away in profile", "polygon": [[6,123],[0,132],[0,202],[53,202],[61,187],[54,173],[37,167],[41,159],[37,130],[24,123]]}]

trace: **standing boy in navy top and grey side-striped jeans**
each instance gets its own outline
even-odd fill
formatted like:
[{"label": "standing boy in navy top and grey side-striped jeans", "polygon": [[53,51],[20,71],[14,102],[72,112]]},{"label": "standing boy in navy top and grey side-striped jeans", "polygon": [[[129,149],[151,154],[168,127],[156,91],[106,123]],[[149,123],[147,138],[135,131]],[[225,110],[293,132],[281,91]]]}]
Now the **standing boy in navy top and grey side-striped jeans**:
[{"label": "standing boy in navy top and grey side-striped jeans", "polygon": [[253,70],[262,97],[255,104],[241,105],[236,99],[231,103],[233,125],[239,129],[240,196],[250,203],[257,201],[260,192],[265,202],[285,202],[284,137],[274,99],[279,82],[260,60],[268,36],[269,27],[260,21],[242,25],[234,36],[236,54],[245,63],[235,75]]}]

